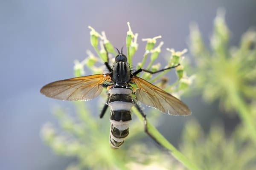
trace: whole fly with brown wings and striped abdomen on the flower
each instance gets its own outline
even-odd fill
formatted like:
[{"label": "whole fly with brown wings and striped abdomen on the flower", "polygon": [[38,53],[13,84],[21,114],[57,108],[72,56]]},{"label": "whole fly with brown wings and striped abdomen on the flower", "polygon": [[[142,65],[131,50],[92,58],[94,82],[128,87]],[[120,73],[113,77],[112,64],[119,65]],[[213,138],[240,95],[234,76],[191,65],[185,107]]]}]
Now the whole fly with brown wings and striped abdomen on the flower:
[{"label": "whole fly with brown wings and striped abdomen on the flower", "polygon": [[[163,113],[170,115],[186,116],[191,114],[189,108],[176,97],[163,91],[157,86],[137,77],[140,72],[148,72],[156,74],[176,66],[164,68],[158,71],[145,70],[143,68],[133,72],[127,62],[127,57],[118,51],[115,62],[111,67],[109,61],[105,62],[109,70],[109,74],[95,74],[84,77],[76,77],[49,83],[41,88],[41,94],[47,97],[61,100],[90,100],[101,94],[103,87],[108,90],[108,99],[105,103],[100,118],[102,118],[110,107],[110,145],[117,149],[123,143],[129,134],[129,123],[131,122],[131,108],[135,106],[144,118],[144,129],[148,133],[147,119],[138,101],[143,104],[156,108]],[[107,50],[106,50],[107,51]],[[108,56],[108,52],[107,52]],[[131,83],[137,85],[137,89],[133,89]],[[135,94],[132,98],[131,94]],[[151,136],[150,133],[148,133]],[[154,139],[153,136],[151,138]],[[156,139],[154,139],[156,141]]]}]

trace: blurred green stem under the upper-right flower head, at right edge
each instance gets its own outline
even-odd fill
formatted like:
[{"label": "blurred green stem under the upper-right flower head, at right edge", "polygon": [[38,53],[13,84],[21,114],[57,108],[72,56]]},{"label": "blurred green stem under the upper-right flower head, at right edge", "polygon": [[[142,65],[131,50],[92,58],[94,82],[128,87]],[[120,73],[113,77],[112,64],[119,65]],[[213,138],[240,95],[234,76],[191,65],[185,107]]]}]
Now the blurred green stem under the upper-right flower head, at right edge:
[{"label": "blurred green stem under the upper-right flower head, at right edge", "polygon": [[230,91],[230,99],[232,100],[233,107],[238,111],[238,115],[244,126],[247,128],[248,132],[250,132],[251,139],[256,144],[256,126],[252,114],[237,92]]}]

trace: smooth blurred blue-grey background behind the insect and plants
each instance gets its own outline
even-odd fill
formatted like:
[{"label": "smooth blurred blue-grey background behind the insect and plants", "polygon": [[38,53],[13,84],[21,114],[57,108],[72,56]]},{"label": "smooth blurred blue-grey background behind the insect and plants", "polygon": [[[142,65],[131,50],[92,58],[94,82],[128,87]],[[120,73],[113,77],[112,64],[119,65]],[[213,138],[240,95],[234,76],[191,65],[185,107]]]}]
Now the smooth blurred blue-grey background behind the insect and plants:
[{"label": "smooth blurred blue-grey background behind the insect and plants", "polygon": [[[161,34],[163,49],[188,48],[191,21],[198,23],[208,43],[218,7],[226,9],[231,44],[238,45],[241,34],[256,25],[255,0],[0,0],[0,169],[59,170],[70,163],[55,156],[40,138],[44,122],[55,121],[52,106],[69,103],[49,99],[39,90],[48,82],[73,77],[74,59],[81,61],[87,49],[93,51],[88,25],[105,30],[120,48],[130,21],[139,33],[136,63],[144,52],[141,38]],[[163,63],[163,57],[159,61]],[[200,97],[183,100],[205,130],[210,119],[221,116],[218,104],[209,106]],[[186,119],[166,116],[159,129],[177,145]],[[227,129],[233,127],[233,119],[225,123]]]}]

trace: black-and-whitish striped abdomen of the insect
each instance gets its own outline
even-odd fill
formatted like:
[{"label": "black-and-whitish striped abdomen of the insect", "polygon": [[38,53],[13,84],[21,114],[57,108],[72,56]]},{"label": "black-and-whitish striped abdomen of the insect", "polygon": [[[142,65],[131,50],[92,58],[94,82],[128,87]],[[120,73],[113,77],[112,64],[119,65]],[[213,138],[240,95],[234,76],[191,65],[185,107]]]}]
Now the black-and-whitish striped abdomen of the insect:
[{"label": "black-and-whitish striped abdomen of the insect", "polygon": [[115,149],[123,144],[125,137],[129,134],[131,107],[133,106],[131,92],[131,89],[128,88],[111,88],[109,90],[108,105],[111,108],[109,142]]}]

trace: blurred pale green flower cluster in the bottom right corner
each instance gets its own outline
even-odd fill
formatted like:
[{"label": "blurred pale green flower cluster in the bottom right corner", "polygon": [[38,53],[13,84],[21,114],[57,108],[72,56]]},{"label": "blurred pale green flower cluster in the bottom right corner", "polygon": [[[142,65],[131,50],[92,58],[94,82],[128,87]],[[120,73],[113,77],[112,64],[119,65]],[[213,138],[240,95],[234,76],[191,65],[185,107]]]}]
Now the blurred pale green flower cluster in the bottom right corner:
[{"label": "blurred pale green flower cluster in the bottom right corner", "polygon": [[186,124],[181,152],[204,170],[255,170],[256,146],[244,138],[238,126],[230,136],[221,123],[213,123],[205,134],[195,120]]}]

